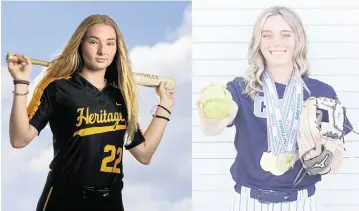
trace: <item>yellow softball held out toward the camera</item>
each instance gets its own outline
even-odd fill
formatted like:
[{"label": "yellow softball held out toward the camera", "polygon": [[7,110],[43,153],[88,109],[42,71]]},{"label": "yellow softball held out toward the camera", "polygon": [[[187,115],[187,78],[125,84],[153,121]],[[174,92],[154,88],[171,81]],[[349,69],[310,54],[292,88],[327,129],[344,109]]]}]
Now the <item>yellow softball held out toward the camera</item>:
[{"label": "yellow softball held out toward the camera", "polygon": [[210,83],[201,89],[199,106],[204,115],[210,119],[223,119],[228,116],[232,103],[232,95],[226,86]]}]

